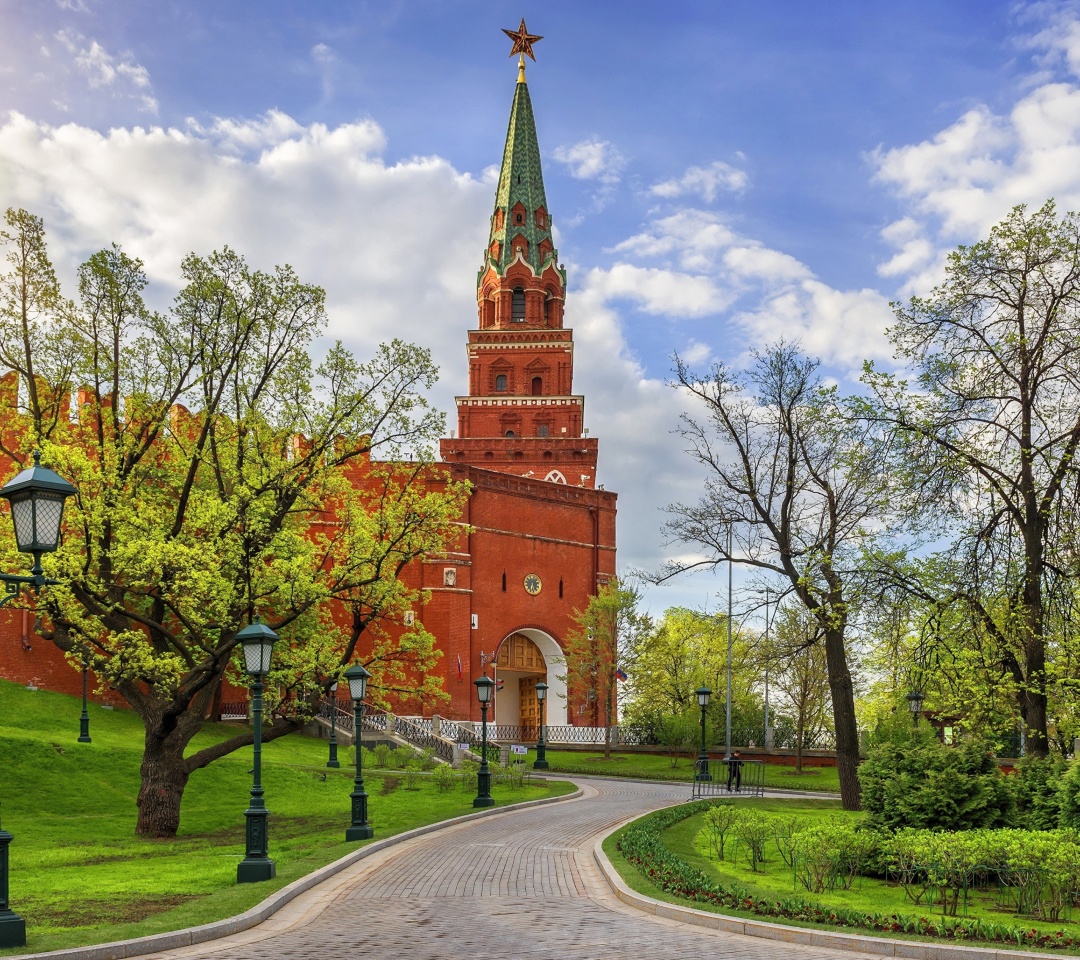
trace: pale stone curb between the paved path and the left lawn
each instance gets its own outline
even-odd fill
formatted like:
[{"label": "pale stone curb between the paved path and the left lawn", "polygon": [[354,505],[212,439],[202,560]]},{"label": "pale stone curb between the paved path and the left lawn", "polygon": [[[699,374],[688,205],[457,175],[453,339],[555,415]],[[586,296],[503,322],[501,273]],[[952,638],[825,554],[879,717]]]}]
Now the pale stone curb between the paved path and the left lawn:
[{"label": "pale stone curb between the paved path and the left lawn", "polygon": [[185,930],[174,930],[168,933],[154,933],[150,936],[140,936],[134,939],[114,941],[107,944],[94,944],[86,947],[68,947],[64,950],[49,950],[39,954],[17,954],[9,956],[5,960],[43,960],[43,958],[55,958],[55,960],[124,960],[127,957],[140,957],[145,954],[153,954],[161,950],[172,950],[176,947],[190,947],[195,944],[206,943],[206,941],[218,939],[233,933],[240,933],[257,927],[276,914],[282,907],[298,897],[301,893],[311,890],[324,880],[328,880],[335,874],[351,867],[354,863],[373,856],[389,847],[404,843],[415,837],[422,837],[426,834],[433,834],[436,830],[453,827],[459,823],[467,823],[470,820],[481,820],[486,816],[495,816],[505,813],[508,810],[523,810],[528,807],[541,807],[544,803],[559,803],[566,800],[575,800],[582,795],[579,787],[571,794],[564,794],[561,797],[544,797],[540,800],[526,800],[522,803],[508,803],[505,807],[490,807],[486,810],[477,810],[473,813],[465,813],[462,816],[455,816],[451,820],[441,820],[436,823],[429,823],[422,827],[394,834],[383,840],[376,840],[366,847],[361,847],[352,853],[347,853],[334,863],[320,867],[318,870],[294,880],[287,887],[283,887],[276,893],[271,893],[261,903],[256,904],[249,910],[238,914],[235,917],[228,917],[225,920],[215,920],[213,923],[204,923],[201,927],[189,927]]}]

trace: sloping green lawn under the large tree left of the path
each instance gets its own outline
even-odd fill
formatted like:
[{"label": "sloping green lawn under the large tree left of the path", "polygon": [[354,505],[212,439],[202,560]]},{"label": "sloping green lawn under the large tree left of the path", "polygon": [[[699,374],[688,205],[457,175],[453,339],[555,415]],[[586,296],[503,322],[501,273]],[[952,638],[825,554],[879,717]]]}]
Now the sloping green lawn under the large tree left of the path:
[{"label": "sloping green lawn under the large tree left of the path", "polygon": [[[238,885],[251,748],[197,771],[179,835],[134,835],[143,727],[126,711],[92,705],[93,743],[77,742],[80,702],[0,681],[0,814],[15,839],[11,907],[26,920],[27,946],[0,956],[55,950],[178,930],[248,909],[293,880],[356,849],[346,843],[353,770],[327,770],[324,741],[292,735],[266,744],[262,784],[270,810],[270,855],[278,877]],[[208,725],[205,743],[234,728]],[[195,744],[198,746],[198,743]],[[367,758],[365,754],[365,759]],[[404,783],[399,773],[396,779]],[[472,812],[473,792],[438,793],[424,781],[383,795],[365,768],[375,839]],[[499,806],[559,796],[561,782],[492,787]]]}]

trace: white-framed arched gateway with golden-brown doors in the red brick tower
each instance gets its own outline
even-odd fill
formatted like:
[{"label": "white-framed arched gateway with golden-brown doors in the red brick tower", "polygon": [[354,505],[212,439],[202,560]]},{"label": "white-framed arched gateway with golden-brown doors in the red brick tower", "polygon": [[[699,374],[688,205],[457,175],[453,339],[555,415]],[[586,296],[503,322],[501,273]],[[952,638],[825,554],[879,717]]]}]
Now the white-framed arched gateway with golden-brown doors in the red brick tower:
[{"label": "white-framed arched gateway with golden-brown doors in the red brick tower", "polygon": [[566,722],[566,660],[555,638],[536,627],[514,631],[499,645],[495,658],[496,675],[502,689],[496,697],[495,721],[519,725],[535,730],[540,725],[540,704],[536,687],[548,685],[544,720],[549,725]]}]

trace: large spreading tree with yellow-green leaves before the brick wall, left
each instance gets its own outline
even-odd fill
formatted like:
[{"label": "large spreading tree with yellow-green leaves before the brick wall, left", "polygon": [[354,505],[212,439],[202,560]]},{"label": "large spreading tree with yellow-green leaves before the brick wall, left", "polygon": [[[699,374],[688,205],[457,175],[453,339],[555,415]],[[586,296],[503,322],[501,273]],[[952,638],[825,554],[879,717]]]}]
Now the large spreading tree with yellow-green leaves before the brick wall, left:
[{"label": "large spreading tree with yellow-green leaves before the brick wall, left", "polygon": [[316,364],[323,290],[230,249],[185,259],[167,315],[144,303],[137,259],[102,251],[62,316],[40,221],[8,222],[0,287],[27,286],[19,251],[33,248],[42,293],[35,310],[4,308],[2,440],[16,465],[40,448],[78,489],[40,630],[141,717],[136,829],[173,836],[191,773],[252,742],[188,752],[256,613],[282,637],[267,740],[299,729],[354,660],[376,700],[436,686],[433,638],[400,625],[422,599],[401,574],[457,535],[464,493],[423,483],[435,369],[399,341],[364,363],[335,344]]}]

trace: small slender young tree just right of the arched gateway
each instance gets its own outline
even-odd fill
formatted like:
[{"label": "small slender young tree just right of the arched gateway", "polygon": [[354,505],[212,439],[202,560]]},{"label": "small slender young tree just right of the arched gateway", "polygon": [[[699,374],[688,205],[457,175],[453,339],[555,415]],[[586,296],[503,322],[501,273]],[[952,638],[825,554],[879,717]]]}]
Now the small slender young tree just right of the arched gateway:
[{"label": "small slender young tree just right of the arched gateway", "polygon": [[568,695],[596,704],[605,728],[605,759],[611,756],[611,728],[618,718],[619,675],[634,670],[634,652],[652,625],[637,609],[639,601],[637,587],[611,580],[584,610],[573,611],[577,625],[564,639]]}]

